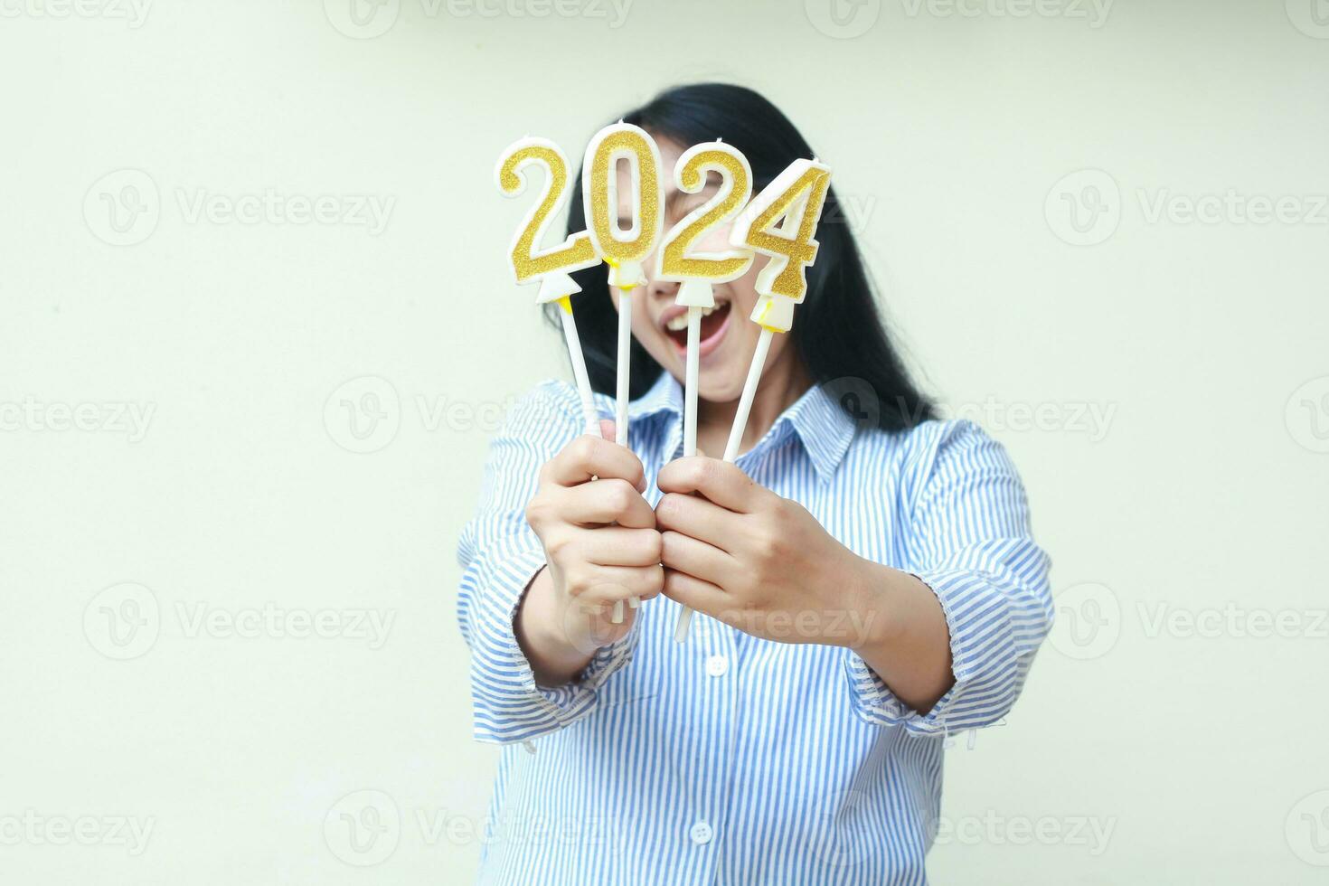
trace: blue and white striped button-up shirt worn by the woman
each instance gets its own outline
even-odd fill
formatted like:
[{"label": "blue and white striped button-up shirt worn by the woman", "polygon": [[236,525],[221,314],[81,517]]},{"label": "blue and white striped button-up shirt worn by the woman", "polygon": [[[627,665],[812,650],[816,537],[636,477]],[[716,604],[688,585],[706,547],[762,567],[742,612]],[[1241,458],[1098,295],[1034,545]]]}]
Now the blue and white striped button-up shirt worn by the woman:
[{"label": "blue and white striped button-up shirt worn by the woman", "polygon": [[[610,399],[597,405],[613,414]],[[664,373],[629,412],[653,505],[657,472],[682,454],[682,409]],[[524,397],[461,537],[474,735],[504,745],[480,881],[926,882],[942,739],[1010,709],[1053,616],[1047,555],[1001,445],[968,421],[857,426],[813,387],[738,460],[856,554],[937,594],[956,684],[920,715],[851,650],[703,615],[678,644],[680,607],[664,596],[579,681],[537,687],[512,624],[545,562],[525,506],[540,466],[583,426],[565,383]]]}]

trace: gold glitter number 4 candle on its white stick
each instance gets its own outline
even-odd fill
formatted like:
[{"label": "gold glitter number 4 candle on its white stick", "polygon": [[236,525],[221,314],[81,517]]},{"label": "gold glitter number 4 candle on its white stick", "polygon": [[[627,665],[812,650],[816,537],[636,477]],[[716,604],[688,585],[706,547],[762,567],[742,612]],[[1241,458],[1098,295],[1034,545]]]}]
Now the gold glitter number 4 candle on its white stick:
[{"label": "gold glitter number 4 candle on its white stick", "polygon": [[[738,458],[766,355],[771,349],[771,337],[776,332],[789,331],[793,325],[793,307],[807,295],[804,267],[817,256],[817,242],[812,238],[821,219],[829,183],[829,167],[816,159],[796,159],[752,198],[730,231],[730,243],[768,255],[769,262],[756,276],[758,302],[751,319],[762,325],[762,335],[734,414],[724,461]],[[675,640],[687,639],[691,615],[690,610],[683,610],[674,632]]]}]

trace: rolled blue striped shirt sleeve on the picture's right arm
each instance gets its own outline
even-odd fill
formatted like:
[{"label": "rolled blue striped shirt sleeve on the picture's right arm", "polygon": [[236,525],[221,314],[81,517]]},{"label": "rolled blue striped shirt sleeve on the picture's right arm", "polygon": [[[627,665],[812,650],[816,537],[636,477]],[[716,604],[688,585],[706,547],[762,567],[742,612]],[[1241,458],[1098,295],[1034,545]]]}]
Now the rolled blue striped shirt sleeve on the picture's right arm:
[{"label": "rolled blue striped shirt sleeve on the picture's right arm", "polygon": [[1010,711],[1051,627],[1053,596],[1049,557],[1034,543],[1025,487],[1001,444],[954,421],[941,425],[933,452],[917,486],[906,571],[941,602],[956,683],[920,715],[852,652],[847,672],[867,721],[946,735]]}]

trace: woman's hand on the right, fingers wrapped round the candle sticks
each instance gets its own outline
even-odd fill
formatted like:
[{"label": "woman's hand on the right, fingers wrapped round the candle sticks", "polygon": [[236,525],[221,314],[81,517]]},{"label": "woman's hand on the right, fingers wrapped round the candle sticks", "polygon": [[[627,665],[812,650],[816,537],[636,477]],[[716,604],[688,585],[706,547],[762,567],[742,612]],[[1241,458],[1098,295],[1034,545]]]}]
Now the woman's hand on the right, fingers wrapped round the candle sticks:
[{"label": "woman's hand on the right, fingers wrapped round the candle sticks", "polygon": [[664,465],[657,485],[666,596],[783,643],[859,647],[882,627],[867,561],[797,502],[706,457]]}]

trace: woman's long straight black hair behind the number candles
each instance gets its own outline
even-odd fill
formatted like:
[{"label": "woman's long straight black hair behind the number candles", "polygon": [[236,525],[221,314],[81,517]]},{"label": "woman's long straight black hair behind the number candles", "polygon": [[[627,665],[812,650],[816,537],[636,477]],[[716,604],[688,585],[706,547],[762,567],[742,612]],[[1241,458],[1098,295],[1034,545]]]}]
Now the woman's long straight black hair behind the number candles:
[{"label": "woman's long straight black hair behind the number candles", "polygon": [[[795,159],[813,157],[789,118],[762,94],[743,86],[675,86],[623,114],[623,121],[683,147],[723,138],[748,158],[754,191],[769,185]],[[672,170],[666,170],[666,174],[672,174]],[[573,234],[586,228],[579,173],[570,197],[567,232]],[[868,385],[876,395],[880,425],[886,430],[936,417],[932,402],[910,380],[886,335],[859,247],[833,187],[827,191],[816,239],[820,247],[816,262],[807,268],[807,299],[795,313],[789,331],[813,384],[852,379],[851,388],[856,396],[863,393],[863,384]],[[609,298],[607,271],[601,263],[573,276],[583,290],[574,304],[591,387],[613,395],[618,312]],[[553,304],[546,308],[553,325],[560,324],[557,311]],[[634,339],[631,396],[642,396],[661,372],[661,365]],[[841,405],[861,420],[860,401],[845,396]]]}]

